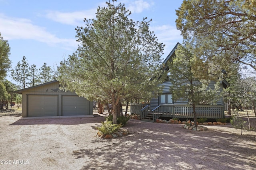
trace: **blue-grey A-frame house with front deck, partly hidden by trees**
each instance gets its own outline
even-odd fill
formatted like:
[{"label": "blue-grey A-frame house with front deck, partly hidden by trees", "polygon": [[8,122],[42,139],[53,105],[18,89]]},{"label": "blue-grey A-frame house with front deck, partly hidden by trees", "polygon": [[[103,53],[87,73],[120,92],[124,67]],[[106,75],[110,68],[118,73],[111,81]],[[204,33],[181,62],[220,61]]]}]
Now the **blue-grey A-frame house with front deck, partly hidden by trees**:
[{"label": "blue-grey A-frame house with front deck, partly hidden by trees", "polygon": [[[163,62],[163,70],[168,70],[167,62],[171,61],[175,57],[175,50],[179,43],[172,49],[170,54]],[[209,88],[214,88],[216,82],[211,81]],[[131,104],[131,113],[140,114],[144,121],[156,121],[159,117],[176,117],[176,118],[193,118],[192,106],[188,105],[188,100],[172,100],[172,94],[170,93],[170,81],[160,84],[163,87],[161,94],[158,94],[157,98],[152,98],[149,104]],[[229,83],[226,80],[222,80],[219,83],[219,91],[222,93],[223,88],[227,88]],[[198,118],[224,118],[224,102],[223,96],[217,101],[216,105],[201,105],[196,106],[196,113]]]}]

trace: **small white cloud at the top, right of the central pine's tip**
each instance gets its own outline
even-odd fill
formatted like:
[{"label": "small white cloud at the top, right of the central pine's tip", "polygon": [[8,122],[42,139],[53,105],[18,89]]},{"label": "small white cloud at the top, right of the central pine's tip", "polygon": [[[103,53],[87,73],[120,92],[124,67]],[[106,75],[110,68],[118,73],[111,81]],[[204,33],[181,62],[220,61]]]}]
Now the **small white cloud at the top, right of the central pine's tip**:
[{"label": "small white cloud at the top, right of the central pine's tip", "polygon": [[152,2],[151,4],[149,4],[148,2],[144,1],[144,0],[136,0],[134,2],[130,2],[128,4],[128,9],[132,12],[132,13],[141,13],[144,9],[148,9],[150,8],[150,6],[154,5],[154,3]]}]

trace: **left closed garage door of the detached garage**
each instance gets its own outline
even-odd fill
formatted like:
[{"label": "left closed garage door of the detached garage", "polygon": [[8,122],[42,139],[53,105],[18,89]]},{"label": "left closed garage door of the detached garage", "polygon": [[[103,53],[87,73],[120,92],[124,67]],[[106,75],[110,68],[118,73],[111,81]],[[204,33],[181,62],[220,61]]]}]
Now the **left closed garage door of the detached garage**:
[{"label": "left closed garage door of the detached garage", "polygon": [[28,116],[57,116],[58,96],[28,95]]}]

